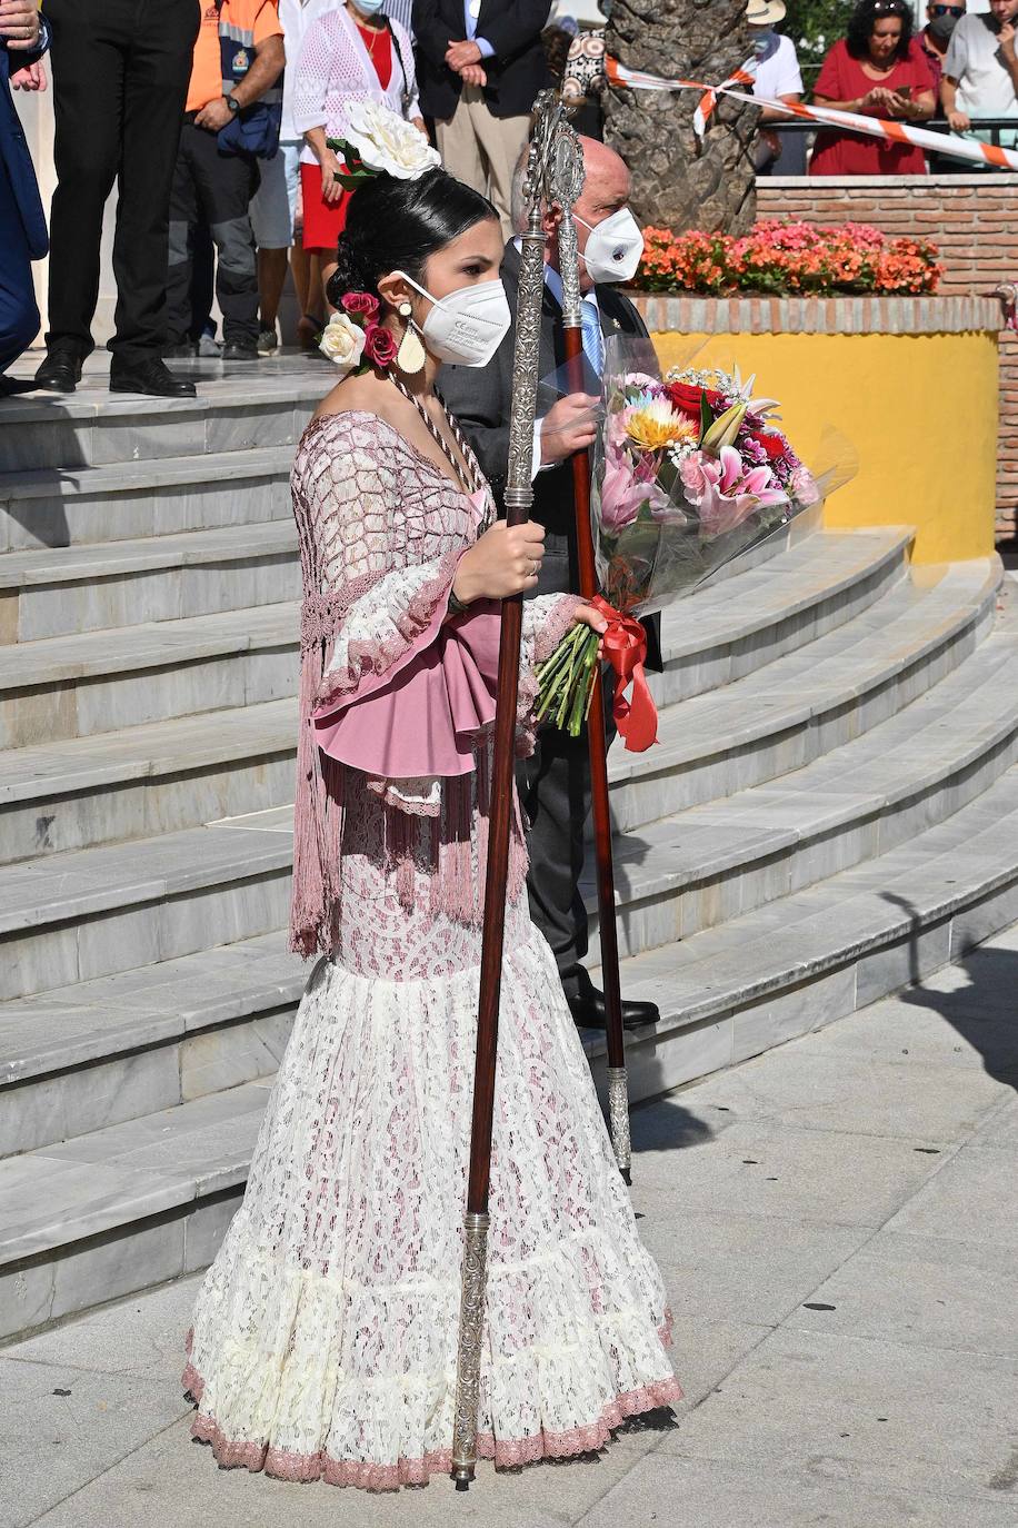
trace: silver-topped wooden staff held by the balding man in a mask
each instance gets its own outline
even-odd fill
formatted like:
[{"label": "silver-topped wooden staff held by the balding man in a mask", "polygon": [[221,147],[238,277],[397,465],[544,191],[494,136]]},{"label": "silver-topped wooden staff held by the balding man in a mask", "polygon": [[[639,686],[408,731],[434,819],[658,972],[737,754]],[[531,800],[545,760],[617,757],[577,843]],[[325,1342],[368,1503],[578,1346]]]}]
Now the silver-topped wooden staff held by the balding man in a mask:
[{"label": "silver-topped wooden staff held by the balding man in a mask", "polygon": [[[571,393],[586,393],[583,377],[583,319],[580,295],[580,260],[572,206],[583,189],[583,145],[572,127],[560,127],[559,179],[563,196],[559,225],[559,275],[562,277],[562,324],[565,329],[566,377]],[[568,168],[566,168],[568,167]],[[600,593],[594,535],[591,532],[591,458],[586,451],[572,455],[572,498],[575,504],[580,593],[594,599]],[[594,808],[594,847],[597,853],[597,906],[601,940],[601,984],[607,1028],[607,1115],[612,1131],[615,1161],[624,1181],[632,1183],[632,1146],[629,1138],[629,1082],[626,1077],[626,1041],[623,1034],[623,995],[618,978],[618,924],[615,920],[615,868],[612,865],[612,814],[607,796],[607,747],[604,732],[604,691],[600,675],[594,683],[588,712],[588,743],[591,749],[591,804]]]}]

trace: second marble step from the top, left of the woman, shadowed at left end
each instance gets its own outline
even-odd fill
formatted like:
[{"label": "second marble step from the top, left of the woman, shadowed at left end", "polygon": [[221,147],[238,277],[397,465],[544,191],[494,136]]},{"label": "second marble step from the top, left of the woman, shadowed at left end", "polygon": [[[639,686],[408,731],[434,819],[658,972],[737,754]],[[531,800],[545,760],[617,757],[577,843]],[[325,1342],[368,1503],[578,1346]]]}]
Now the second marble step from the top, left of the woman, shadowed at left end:
[{"label": "second marble step from the top, left of the woman, shadowed at left end", "polygon": [[3,471],[0,553],[288,521],[292,466],[292,445],[259,445],[102,466]]}]

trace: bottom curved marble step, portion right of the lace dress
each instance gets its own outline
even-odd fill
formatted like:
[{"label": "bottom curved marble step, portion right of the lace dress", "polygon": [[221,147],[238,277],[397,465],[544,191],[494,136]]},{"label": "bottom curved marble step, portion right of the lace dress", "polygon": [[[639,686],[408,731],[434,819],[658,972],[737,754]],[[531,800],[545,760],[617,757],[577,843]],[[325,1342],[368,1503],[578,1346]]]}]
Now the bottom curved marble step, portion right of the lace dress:
[{"label": "bottom curved marble step, portion right of the lace dress", "polygon": [[[627,1044],[633,1097],[842,1018],[1018,921],[1018,769],[946,822],[722,927],[626,961],[662,1022]],[[597,975],[597,972],[595,972]],[[588,1053],[603,1067],[604,1038]]]}]

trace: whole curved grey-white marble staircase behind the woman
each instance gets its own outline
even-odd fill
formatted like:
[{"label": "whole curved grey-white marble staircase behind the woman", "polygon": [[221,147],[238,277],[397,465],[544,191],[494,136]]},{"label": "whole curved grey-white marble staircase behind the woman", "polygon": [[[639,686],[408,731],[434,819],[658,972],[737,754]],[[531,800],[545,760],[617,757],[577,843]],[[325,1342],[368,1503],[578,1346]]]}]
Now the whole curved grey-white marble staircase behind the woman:
[{"label": "whole curved grey-white marble staircase behind the woman", "polygon": [[[0,1337],[209,1261],[305,979],[285,480],[330,377],[203,370],[0,414]],[[1018,608],[908,547],[800,521],[665,617],[661,743],[610,755],[635,1100],[1018,918]]]}]

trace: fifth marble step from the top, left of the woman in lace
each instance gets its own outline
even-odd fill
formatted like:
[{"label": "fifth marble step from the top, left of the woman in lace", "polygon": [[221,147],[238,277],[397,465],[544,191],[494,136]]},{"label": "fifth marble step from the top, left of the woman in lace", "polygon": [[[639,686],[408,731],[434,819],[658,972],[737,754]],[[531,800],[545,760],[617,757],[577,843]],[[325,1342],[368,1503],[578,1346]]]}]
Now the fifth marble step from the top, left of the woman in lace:
[{"label": "fifth marble step from the top, left of the woman in lace", "polygon": [[293,801],[296,698],[0,753],[0,863]]}]

